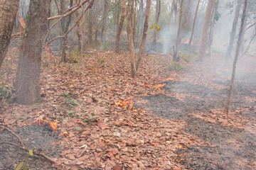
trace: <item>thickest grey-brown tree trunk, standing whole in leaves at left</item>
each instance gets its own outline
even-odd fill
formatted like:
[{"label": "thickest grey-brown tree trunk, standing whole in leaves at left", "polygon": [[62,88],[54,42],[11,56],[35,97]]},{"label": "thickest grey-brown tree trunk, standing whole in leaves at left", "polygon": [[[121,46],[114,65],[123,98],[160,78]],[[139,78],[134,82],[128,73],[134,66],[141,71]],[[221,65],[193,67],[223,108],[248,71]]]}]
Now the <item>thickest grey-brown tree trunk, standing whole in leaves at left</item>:
[{"label": "thickest grey-brown tree trunk, standing whole in leaves at left", "polygon": [[16,73],[17,103],[33,104],[41,101],[41,53],[49,9],[50,0],[30,1],[23,37],[23,51],[18,58]]}]

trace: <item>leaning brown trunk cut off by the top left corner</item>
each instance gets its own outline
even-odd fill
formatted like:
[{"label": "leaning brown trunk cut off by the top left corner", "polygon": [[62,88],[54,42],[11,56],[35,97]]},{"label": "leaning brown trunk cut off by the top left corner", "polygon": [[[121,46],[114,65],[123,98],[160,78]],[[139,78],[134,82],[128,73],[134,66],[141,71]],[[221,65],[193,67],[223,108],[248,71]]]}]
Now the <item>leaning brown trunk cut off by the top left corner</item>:
[{"label": "leaning brown trunk cut off by the top left corner", "polygon": [[0,0],[0,69],[4,61],[7,47],[18,11],[18,0]]}]

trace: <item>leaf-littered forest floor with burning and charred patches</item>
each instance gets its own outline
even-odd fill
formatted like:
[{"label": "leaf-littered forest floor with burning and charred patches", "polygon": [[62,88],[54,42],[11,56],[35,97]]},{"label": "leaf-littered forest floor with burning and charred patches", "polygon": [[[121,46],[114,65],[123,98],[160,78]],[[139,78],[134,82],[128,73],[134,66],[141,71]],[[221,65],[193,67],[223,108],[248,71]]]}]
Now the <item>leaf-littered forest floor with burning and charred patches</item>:
[{"label": "leaf-littered forest floor with burning and charred patches", "polygon": [[[30,169],[254,169],[255,56],[238,61],[228,114],[223,108],[232,60],[220,53],[205,62],[196,59],[181,53],[181,61],[172,62],[171,55],[151,52],[140,77],[132,79],[128,52],[72,50],[65,64],[44,53],[42,103],[21,106],[2,99],[0,125],[55,164],[2,143],[0,169],[21,162]],[[11,46],[0,70],[7,91],[17,61],[18,47]],[[54,120],[57,130],[49,126]],[[18,145],[11,132],[0,130],[2,140]]]}]

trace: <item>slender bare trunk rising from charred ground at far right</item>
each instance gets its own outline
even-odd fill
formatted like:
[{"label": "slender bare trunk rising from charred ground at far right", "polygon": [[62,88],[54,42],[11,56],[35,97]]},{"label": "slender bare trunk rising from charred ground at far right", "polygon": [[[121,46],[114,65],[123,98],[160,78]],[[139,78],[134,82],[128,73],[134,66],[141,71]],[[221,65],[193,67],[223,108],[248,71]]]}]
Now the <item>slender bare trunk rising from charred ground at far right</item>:
[{"label": "slender bare trunk rising from charred ground at far right", "polygon": [[246,8],[247,8],[247,0],[245,0],[245,4],[242,10],[242,19],[241,19],[241,25],[240,25],[240,32],[238,35],[238,45],[236,48],[236,52],[235,52],[235,60],[233,62],[233,71],[232,71],[232,77],[231,77],[231,82],[230,82],[230,90],[228,93],[228,101],[227,101],[227,105],[225,106],[225,112],[228,113],[229,108],[230,108],[230,101],[231,101],[231,94],[233,91],[233,84],[234,84],[234,80],[235,80],[235,69],[236,69],[236,63],[238,62],[238,55],[239,55],[239,50],[240,50],[240,45],[241,45],[241,39],[242,39],[242,32],[244,29],[244,23],[245,23],[245,15],[246,15]]}]

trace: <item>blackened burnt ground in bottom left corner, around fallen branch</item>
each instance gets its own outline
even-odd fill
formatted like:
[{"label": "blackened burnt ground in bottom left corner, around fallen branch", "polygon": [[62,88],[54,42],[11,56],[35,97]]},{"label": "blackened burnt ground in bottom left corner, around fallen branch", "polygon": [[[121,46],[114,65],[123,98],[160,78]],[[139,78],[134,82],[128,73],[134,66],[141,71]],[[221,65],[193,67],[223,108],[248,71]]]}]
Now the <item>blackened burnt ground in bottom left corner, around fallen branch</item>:
[{"label": "blackened burnt ground in bottom left corner, around fallen branch", "polygon": [[[17,128],[14,132],[21,137],[23,144],[28,149],[43,152],[48,157],[58,157],[62,152],[62,148],[55,145],[55,142],[61,137],[58,137],[58,132],[51,130],[50,127],[25,125]],[[4,142],[12,142],[21,146],[18,139],[8,130],[1,130],[0,137]],[[36,155],[31,157],[28,152],[11,144],[0,146],[0,160],[0,169],[14,169],[21,162],[25,162],[29,169],[55,169],[48,160]]]}]

